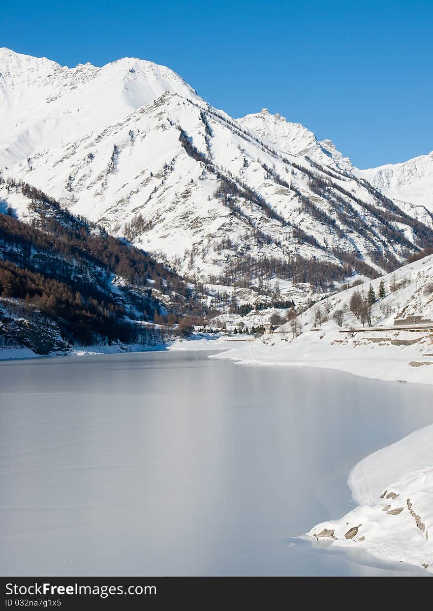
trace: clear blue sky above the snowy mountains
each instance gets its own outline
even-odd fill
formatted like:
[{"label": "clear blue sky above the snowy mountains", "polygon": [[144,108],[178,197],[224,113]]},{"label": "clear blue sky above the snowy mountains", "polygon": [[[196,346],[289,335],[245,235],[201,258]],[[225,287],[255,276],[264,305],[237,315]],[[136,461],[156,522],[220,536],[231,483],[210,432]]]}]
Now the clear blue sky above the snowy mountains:
[{"label": "clear blue sky above the snowy mountains", "polygon": [[234,117],[266,107],[358,167],[433,150],[433,2],[7,2],[0,46],[168,65]]}]

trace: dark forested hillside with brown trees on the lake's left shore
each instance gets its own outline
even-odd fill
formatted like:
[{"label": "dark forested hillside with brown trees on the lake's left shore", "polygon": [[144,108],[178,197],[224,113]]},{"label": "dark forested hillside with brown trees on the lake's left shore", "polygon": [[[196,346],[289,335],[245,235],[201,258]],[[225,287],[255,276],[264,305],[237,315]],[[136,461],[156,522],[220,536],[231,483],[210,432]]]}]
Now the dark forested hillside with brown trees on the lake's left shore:
[{"label": "dark forested hillside with brown trees on the lake's left shore", "polygon": [[155,316],[184,335],[207,313],[193,288],[146,252],[39,189],[0,183],[27,197],[31,214],[30,222],[7,208],[0,214],[3,346],[48,353],[75,343],[152,343],[161,339]]}]

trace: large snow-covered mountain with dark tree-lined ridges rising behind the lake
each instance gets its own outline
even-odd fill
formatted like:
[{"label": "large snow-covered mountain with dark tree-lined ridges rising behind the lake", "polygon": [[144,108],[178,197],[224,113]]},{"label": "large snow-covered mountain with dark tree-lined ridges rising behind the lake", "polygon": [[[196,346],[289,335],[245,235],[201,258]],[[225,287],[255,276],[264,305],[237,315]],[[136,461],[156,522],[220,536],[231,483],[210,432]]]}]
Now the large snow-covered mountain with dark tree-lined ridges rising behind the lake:
[{"label": "large snow-covered mountain with dark tree-lined ridges rising behind the lake", "polygon": [[231,119],[168,68],[128,58],[67,68],[2,49],[0,73],[3,177],[191,279],[279,280],[307,298],[433,241],[426,208],[396,206],[332,142],[266,111]]}]

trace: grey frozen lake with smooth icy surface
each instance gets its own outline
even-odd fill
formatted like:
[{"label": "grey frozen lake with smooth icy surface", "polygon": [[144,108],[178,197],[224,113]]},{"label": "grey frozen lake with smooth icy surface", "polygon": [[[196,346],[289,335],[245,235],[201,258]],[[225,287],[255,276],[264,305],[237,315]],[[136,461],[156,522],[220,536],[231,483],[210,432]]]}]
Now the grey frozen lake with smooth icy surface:
[{"label": "grey frozen lake with smooth icy surface", "polygon": [[294,537],[433,389],[208,354],[0,363],[0,574],[416,573]]}]

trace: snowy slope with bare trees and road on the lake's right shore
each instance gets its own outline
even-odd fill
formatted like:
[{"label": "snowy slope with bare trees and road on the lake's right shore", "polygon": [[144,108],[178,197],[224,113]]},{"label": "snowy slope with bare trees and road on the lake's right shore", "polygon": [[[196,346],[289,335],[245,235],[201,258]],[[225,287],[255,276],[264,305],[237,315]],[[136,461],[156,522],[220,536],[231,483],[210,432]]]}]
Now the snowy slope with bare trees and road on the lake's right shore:
[{"label": "snowy slope with bare trees and road on the lake's right shore", "polygon": [[[381,282],[383,298],[379,298]],[[323,367],[366,378],[433,384],[433,255],[371,282],[376,295],[371,327],[350,309],[352,296],[366,299],[369,285],[366,282],[319,301],[295,322],[246,348],[218,354],[218,358]],[[394,326],[394,320],[408,316],[421,316],[427,323],[421,329],[410,323]]]}]

